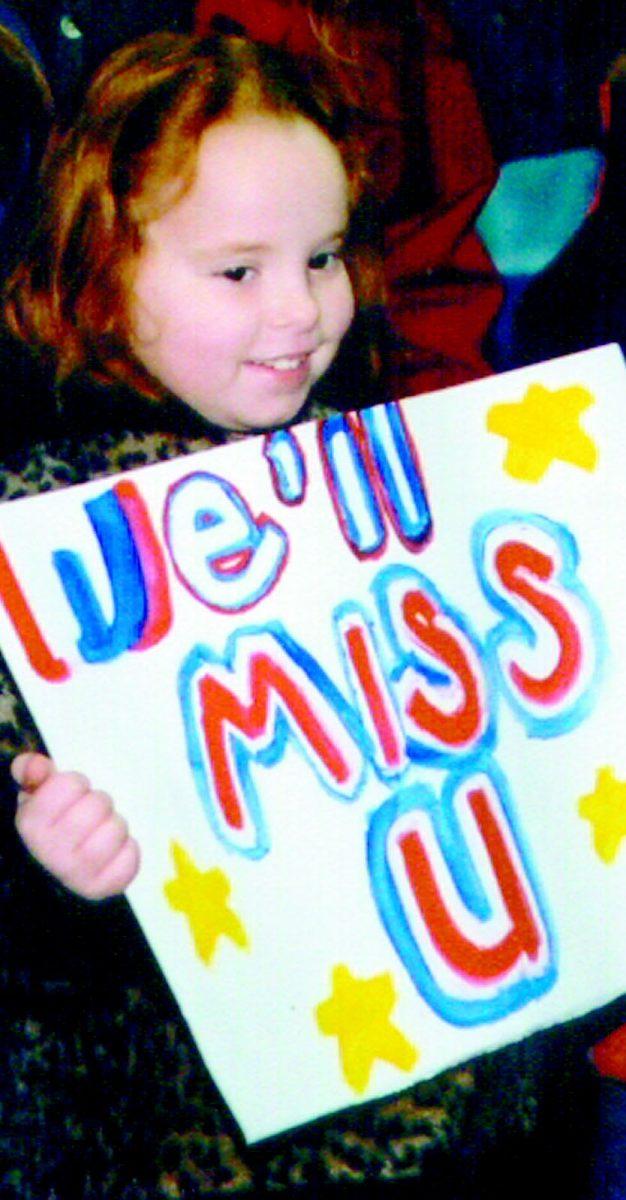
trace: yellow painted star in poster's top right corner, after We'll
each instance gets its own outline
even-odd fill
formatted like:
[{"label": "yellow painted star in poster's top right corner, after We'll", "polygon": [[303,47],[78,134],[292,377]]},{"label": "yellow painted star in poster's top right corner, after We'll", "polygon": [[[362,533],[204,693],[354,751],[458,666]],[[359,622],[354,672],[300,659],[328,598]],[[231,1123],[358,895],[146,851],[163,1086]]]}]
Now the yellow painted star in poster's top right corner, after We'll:
[{"label": "yellow painted star in poster's top right corner, after We'll", "polygon": [[504,469],[529,484],[538,484],[556,458],[594,470],[597,448],[578,421],[594,403],[586,388],[549,391],[534,383],[519,403],[494,404],[487,414],[487,428],[508,440]]}]

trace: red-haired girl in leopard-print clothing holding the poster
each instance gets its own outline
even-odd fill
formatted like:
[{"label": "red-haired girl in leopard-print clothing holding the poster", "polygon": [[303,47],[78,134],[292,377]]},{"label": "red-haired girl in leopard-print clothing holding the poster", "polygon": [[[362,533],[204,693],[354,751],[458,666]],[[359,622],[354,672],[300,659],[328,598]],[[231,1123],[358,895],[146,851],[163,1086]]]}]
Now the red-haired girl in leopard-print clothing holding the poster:
[{"label": "red-haired girl in leopard-print clothing holding the poster", "polygon": [[[72,426],[89,427],[97,406],[101,432],[13,460],[0,470],[5,498],[289,424],[319,404],[318,382],[335,370],[353,294],[362,299],[369,276],[354,221],[345,242],[363,185],[344,118],[324,80],[302,80],[289,60],[241,40],[155,35],[101,70],[49,157],[40,230],[7,300],[14,332],[72,390]],[[131,433],[103,432],[107,413],[119,428],[118,410]],[[0,739],[7,751],[37,744],[8,682]],[[139,852],[112,800],[38,752],[12,769],[17,823],[36,858],[80,895],[122,890]],[[345,1181],[368,1195],[377,1182],[385,1195],[393,1182],[415,1196],[444,1195],[446,1182],[455,1198],[484,1194],[481,1147],[495,1136],[502,1091],[506,1152],[516,1133],[523,1154],[541,1074],[541,1055],[524,1046],[505,1066],[500,1056],[461,1067],[246,1151],[124,924],[124,901],[76,901],[78,919],[66,922],[71,894],[19,847],[12,865],[7,846],[8,830],[7,1195],[318,1196]],[[271,1080],[263,1086],[271,1103]],[[522,1176],[512,1153],[506,1171]]]}]

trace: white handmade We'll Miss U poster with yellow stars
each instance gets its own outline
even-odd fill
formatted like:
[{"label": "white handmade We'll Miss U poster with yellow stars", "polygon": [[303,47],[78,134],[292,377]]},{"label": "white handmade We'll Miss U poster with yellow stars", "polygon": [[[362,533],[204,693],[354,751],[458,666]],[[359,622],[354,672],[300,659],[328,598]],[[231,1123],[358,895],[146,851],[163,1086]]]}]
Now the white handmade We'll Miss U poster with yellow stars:
[{"label": "white handmade We'll Miss U poster with yellow stars", "polygon": [[143,847],[249,1140],[626,989],[615,347],[0,506],[0,644]]}]

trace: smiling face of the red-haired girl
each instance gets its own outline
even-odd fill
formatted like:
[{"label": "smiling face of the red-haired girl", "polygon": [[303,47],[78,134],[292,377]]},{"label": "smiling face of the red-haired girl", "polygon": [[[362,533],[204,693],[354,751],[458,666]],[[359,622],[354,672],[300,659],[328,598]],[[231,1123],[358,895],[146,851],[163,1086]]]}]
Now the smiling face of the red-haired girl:
[{"label": "smiling face of the red-haired girl", "polygon": [[311,121],[252,114],[211,126],[192,187],[145,229],[136,356],[213,425],[293,420],[354,314],[347,226],[342,160]]}]

